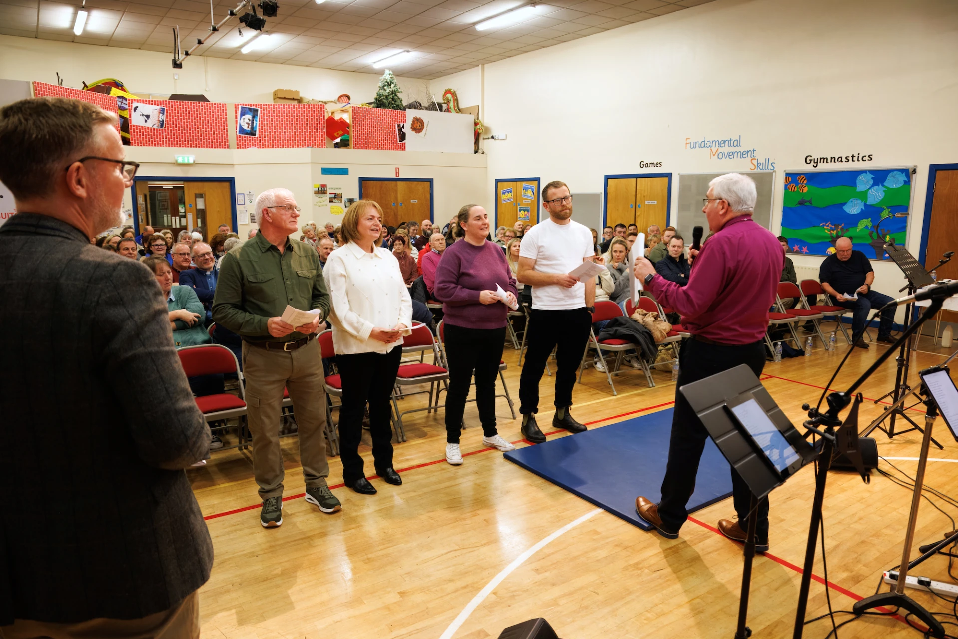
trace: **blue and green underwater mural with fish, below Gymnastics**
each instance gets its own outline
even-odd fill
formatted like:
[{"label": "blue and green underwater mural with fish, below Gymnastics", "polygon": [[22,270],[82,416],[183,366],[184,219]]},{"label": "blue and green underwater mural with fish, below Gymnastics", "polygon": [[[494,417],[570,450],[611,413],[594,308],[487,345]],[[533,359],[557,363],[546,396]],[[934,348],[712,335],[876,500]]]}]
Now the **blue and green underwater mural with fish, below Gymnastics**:
[{"label": "blue and green underwater mural with fish, below Gymnastics", "polygon": [[887,260],[887,241],[905,242],[911,167],[856,171],[787,171],[782,235],[788,250],[831,255],[839,238],[870,260]]}]

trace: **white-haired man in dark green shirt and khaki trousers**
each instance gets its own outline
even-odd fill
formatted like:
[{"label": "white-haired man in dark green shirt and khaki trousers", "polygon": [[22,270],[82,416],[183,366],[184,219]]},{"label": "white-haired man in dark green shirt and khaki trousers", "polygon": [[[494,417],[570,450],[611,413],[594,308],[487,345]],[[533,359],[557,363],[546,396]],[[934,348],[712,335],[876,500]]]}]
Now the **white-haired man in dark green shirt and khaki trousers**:
[{"label": "white-haired man in dark green shirt and khaki trousers", "polygon": [[[279,434],[284,388],[298,425],[306,500],[323,513],[342,508],[326,481],[325,376],[315,340],[330,312],[330,293],[316,249],[288,237],[299,232],[293,194],[264,191],[256,199],[256,211],[260,232],[227,253],[219,267],[213,320],[242,337],[253,469],[262,498],[260,523],[275,528],[283,523]],[[309,324],[293,327],[281,317],[287,305],[319,312]]]}]

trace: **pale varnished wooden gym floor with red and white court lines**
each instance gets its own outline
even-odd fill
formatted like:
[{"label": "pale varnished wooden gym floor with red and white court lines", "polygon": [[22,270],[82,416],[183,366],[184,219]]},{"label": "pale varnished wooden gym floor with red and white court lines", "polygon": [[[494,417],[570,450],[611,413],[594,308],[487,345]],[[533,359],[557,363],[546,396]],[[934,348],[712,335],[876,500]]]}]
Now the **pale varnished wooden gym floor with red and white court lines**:
[{"label": "pale varnished wooden gym floor with red and white court lines", "polygon": [[[819,348],[811,357],[765,366],[766,388],[797,426],[805,417],[802,403],[818,400],[846,348],[839,345],[835,353]],[[873,345],[852,354],[833,387],[847,387],[885,348]],[[941,363],[948,354],[931,346],[930,338],[923,338],[921,349],[912,359],[913,372]],[[507,346],[504,358],[518,413],[516,354]],[[589,367],[576,385],[573,415],[589,428],[600,428],[672,405],[669,373],[654,373],[657,386],[650,389],[640,371],[626,371],[616,377],[619,396],[613,398],[604,374]],[[546,432],[551,431],[553,379],[543,377],[541,384],[539,424]],[[876,399],[894,379],[891,359],[861,391]],[[913,373],[911,381],[916,379]],[[424,405],[424,398],[400,405]],[[867,401],[862,409],[864,427],[880,408]],[[519,442],[520,422],[510,419],[505,399],[499,399],[497,414],[500,434],[526,445]],[[924,423],[918,409],[913,415]],[[479,639],[497,637],[502,628],[533,617],[546,618],[566,639],[734,635],[741,546],[715,528],[719,518],[735,513],[731,498],[694,513],[680,538],[667,540],[484,449],[474,403],[467,404],[466,422],[465,463],[451,467],[445,463],[442,411],[407,416],[409,441],[396,445],[395,453],[403,486],[375,479],[375,496],[342,488],[341,465],[338,457],[331,458],[330,485],[343,502],[342,513],[332,515],[303,500],[298,445],[295,438],[284,439],[287,501],[278,529],[260,526],[249,451],[215,451],[205,468],[191,470],[216,550],[213,575],[200,590],[203,637]],[[919,433],[894,440],[875,434],[879,455],[917,458]],[[934,435],[945,449],[932,446],[931,457],[958,460],[958,444],[940,419]],[[567,435],[549,435],[560,436]],[[369,446],[360,451],[373,472]],[[914,476],[913,459],[890,463]],[[889,462],[879,468],[894,471]],[[756,557],[752,576],[748,625],[754,636],[791,636],[812,475],[804,468],[771,495],[770,553]],[[958,464],[929,462],[925,483],[958,497]],[[931,498],[955,516],[956,509]],[[877,472],[870,485],[853,473],[829,474],[824,523],[835,610],[849,610],[855,600],[873,594],[881,571],[899,562],[910,500],[910,490]],[[954,528],[923,501],[912,558],[918,545]],[[943,557],[928,559],[915,574],[952,582]],[[820,550],[814,575],[809,618],[827,611]],[[950,603],[928,593],[908,594],[931,610],[951,610]],[[839,614],[836,620],[850,616]],[[829,630],[825,618],[807,626],[805,634],[821,638]],[[954,626],[946,630],[958,634]],[[877,616],[856,620],[839,633],[843,638],[921,636],[901,618]]]}]

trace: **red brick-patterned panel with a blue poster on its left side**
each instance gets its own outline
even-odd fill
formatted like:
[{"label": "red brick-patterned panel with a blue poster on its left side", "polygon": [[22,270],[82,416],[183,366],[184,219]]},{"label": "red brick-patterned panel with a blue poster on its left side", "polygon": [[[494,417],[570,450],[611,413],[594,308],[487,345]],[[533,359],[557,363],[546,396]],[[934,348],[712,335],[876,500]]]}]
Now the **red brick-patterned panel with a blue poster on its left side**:
[{"label": "red brick-patterned panel with a blue poster on its left side", "polygon": [[260,109],[259,135],[238,135],[237,148],[326,148],[325,104],[237,104]]}]

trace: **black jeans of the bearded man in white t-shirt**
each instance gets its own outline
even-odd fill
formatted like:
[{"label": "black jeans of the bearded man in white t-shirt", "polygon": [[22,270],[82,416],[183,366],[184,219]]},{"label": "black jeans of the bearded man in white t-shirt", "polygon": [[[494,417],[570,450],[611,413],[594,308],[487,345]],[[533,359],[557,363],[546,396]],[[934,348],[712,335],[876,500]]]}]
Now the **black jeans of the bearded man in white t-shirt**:
[{"label": "black jeans of the bearded man in white t-shirt", "polygon": [[[589,340],[592,313],[581,308],[529,312],[529,339],[526,340],[526,360],[519,377],[519,412],[523,415],[538,412],[538,384],[545,372],[549,354],[556,348],[556,408],[572,405],[572,387],[576,385],[576,371]],[[557,348],[558,347],[558,348]]]}]

